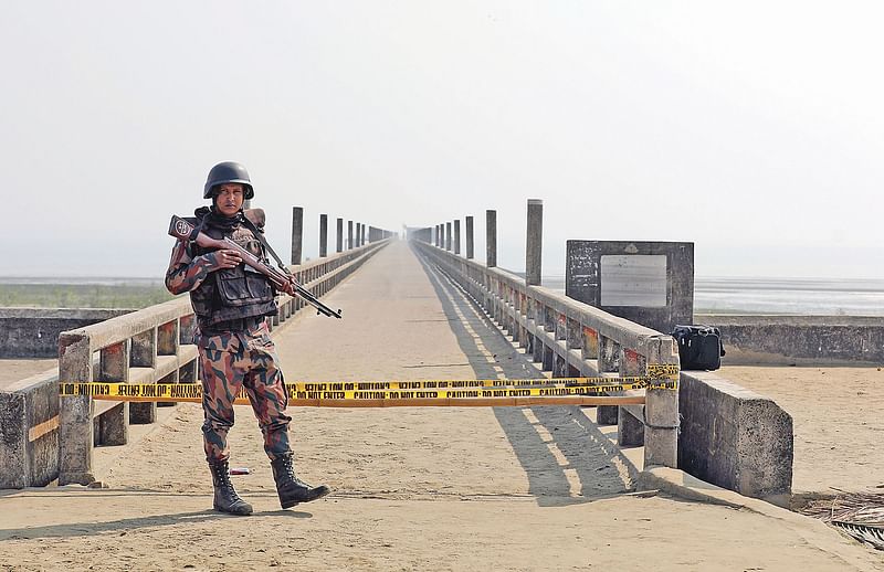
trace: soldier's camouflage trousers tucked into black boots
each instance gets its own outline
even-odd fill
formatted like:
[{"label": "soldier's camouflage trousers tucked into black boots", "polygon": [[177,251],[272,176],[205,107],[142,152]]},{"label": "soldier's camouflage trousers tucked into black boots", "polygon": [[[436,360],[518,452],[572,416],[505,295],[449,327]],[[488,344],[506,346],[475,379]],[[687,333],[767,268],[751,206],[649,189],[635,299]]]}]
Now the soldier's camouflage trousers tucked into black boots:
[{"label": "soldier's camouflage trousers tucked into black boots", "polygon": [[292,417],[285,414],[288,395],[266,325],[252,331],[198,335],[197,343],[202,366],[206,459],[212,463],[230,457],[228,432],[233,426],[233,401],[241,388],[249,395],[271,460],[291,453]]}]

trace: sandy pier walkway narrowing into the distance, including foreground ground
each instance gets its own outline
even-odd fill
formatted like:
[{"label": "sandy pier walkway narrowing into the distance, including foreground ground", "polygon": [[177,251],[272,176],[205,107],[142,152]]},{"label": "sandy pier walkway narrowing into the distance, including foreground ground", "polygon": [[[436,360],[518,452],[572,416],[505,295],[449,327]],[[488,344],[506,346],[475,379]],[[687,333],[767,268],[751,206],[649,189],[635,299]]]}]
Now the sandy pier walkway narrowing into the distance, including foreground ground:
[{"label": "sandy pier walkway narrowing into the distance, including foreground ground", "polygon": [[[345,319],[301,313],[274,331],[290,381],[541,375],[404,242],[324,300]],[[235,477],[255,507],[249,518],[210,509],[200,407],[160,411],[165,421],[126,447],[95,449],[96,477],[109,488],[0,497],[0,568],[884,569],[833,529],[759,500],[636,492],[641,449],[619,449],[592,409],[291,409],[296,469],[334,492],[283,511],[241,407],[232,466],[252,470]],[[681,478],[661,475],[657,485]]]}]

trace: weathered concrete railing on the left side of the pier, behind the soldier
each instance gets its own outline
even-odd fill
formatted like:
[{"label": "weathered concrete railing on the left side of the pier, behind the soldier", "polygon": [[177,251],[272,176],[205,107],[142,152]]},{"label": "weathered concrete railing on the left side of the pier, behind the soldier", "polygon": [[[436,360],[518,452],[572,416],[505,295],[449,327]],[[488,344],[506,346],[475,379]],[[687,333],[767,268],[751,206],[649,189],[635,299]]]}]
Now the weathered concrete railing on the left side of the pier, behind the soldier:
[{"label": "weathered concrete railing on the left side of the pier, behind the soldier", "polygon": [[[327,294],[389,241],[380,241],[291,269],[317,297]],[[278,326],[307,304],[281,296]],[[197,348],[192,345],[194,316],[189,299],[119,316],[82,329],[62,332],[59,371],[62,382],[118,381],[126,383],[196,383]],[[57,399],[57,385],[55,386]],[[123,445],[129,423],[156,421],[156,403],[117,403],[88,396],[64,398],[60,406],[59,484],[88,485],[93,447]]]}]

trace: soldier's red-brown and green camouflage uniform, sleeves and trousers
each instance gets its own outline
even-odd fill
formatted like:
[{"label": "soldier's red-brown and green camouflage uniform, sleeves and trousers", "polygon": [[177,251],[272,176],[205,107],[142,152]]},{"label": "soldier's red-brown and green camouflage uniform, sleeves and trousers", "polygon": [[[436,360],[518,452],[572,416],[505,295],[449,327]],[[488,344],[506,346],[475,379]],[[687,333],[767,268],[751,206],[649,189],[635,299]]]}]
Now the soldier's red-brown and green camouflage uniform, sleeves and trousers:
[{"label": "soldier's red-brown and green camouflage uniform, sleeves and trousers", "polygon": [[[210,234],[229,235],[250,252],[263,255],[260,242],[242,224],[223,232],[208,230]],[[206,458],[209,463],[217,463],[230,457],[227,436],[234,421],[233,401],[243,386],[264,434],[267,456],[273,460],[291,455],[288,423],[292,417],[285,414],[288,398],[265,321],[265,316],[276,314],[273,292],[263,275],[242,268],[212,272],[215,267],[215,253],[200,253],[196,245],[178,242],[166,273],[167,288],[173,294],[189,292],[197,311],[194,341],[202,370]],[[252,304],[233,306],[219,301],[225,300],[222,292],[225,283],[236,279],[245,290],[251,286],[261,292]],[[270,301],[267,294],[259,290],[261,286],[270,292]],[[234,298],[234,304],[239,301],[235,294],[230,297]]]}]

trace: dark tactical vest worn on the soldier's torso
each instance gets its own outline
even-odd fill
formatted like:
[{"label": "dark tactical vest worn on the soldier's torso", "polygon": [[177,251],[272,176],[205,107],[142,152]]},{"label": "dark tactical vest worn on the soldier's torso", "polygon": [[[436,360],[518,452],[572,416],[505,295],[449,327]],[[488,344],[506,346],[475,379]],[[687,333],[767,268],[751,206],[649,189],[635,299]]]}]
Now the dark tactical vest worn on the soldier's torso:
[{"label": "dark tactical vest worn on the soldier's torso", "polygon": [[[244,224],[238,224],[225,232],[213,226],[208,219],[202,232],[217,240],[229,236],[246,251],[265,258],[261,242]],[[193,256],[211,252],[196,243],[191,243],[190,247]],[[245,264],[209,273],[202,284],[190,292],[190,303],[203,332],[225,329],[222,322],[257,316],[275,316],[278,313],[274,292],[267,278]]]}]

